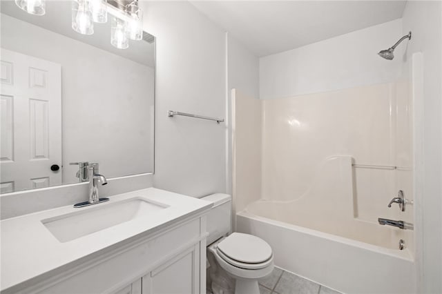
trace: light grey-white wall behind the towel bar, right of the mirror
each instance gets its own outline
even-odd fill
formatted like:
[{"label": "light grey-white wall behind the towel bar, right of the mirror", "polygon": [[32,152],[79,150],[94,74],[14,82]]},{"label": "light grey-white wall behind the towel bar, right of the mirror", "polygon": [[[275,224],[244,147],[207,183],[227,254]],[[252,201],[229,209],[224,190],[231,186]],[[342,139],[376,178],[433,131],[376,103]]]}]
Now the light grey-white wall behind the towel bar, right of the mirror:
[{"label": "light grey-white wall behind the towel bar, right of the mirror", "polygon": [[157,37],[154,186],[200,197],[225,190],[226,125],[167,110],[225,117],[224,31],[184,1],[146,1]]}]

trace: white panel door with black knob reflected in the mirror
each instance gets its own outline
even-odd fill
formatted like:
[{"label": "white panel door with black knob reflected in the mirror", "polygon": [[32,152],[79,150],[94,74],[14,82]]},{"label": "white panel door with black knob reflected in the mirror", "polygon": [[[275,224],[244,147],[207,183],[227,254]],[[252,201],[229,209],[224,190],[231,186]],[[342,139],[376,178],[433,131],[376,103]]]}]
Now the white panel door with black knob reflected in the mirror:
[{"label": "white panel door with black knob reflected in the mirror", "polygon": [[61,66],[3,48],[0,59],[1,193],[61,184]]}]

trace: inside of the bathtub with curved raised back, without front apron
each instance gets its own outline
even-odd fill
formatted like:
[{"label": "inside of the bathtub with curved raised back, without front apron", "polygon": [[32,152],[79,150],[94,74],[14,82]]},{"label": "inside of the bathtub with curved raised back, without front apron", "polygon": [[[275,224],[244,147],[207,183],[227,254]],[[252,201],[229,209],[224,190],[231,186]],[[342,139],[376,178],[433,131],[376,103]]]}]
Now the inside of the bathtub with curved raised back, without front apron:
[{"label": "inside of the bathtub with curved raised back, without front apron", "polygon": [[[400,239],[413,244],[412,235],[407,239],[403,230],[379,226],[378,217],[371,221],[355,215],[354,208],[357,208],[358,201],[357,195],[354,195],[353,182],[352,157],[329,157],[318,168],[307,192],[299,198],[286,201],[262,199],[252,202],[244,211],[394,251],[398,250]],[[376,182],[372,185],[376,186]],[[376,202],[374,197],[372,202]],[[391,215],[396,213],[392,211]],[[402,216],[390,218],[402,219]],[[414,248],[412,245],[410,247]],[[412,251],[407,250],[406,256],[411,258],[412,254]]]}]

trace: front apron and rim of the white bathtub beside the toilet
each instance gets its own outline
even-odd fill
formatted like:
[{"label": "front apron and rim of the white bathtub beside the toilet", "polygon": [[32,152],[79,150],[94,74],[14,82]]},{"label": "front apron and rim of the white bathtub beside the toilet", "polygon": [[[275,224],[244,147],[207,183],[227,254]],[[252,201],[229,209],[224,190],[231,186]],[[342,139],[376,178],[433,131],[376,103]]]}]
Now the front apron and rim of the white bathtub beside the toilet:
[{"label": "front apron and rim of the white bathtub beside the toilet", "polygon": [[247,210],[237,213],[236,231],[265,239],[276,266],[337,291],[416,293],[415,266],[407,249],[376,246]]}]

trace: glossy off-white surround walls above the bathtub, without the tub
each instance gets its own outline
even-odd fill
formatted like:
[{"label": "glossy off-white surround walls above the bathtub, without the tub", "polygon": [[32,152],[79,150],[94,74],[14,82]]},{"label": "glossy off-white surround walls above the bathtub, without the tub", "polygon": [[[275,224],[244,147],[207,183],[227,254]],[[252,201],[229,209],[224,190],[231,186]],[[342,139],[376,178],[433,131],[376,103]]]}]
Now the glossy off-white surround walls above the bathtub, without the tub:
[{"label": "glossy off-white surround walls above the bathtub, without the tub", "polygon": [[[321,170],[329,159],[348,156],[351,162],[345,167],[349,173],[345,185],[353,190],[345,204],[351,206],[344,208],[334,195],[323,196],[324,204],[348,210],[355,219],[376,226],[380,215],[403,217],[397,207],[387,207],[399,189],[413,199],[411,186],[396,186],[397,170],[353,168],[351,164],[398,166],[410,176],[411,148],[404,145],[411,142],[412,108],[404,87],[378,84],[260,101],[235,91],[233,152],[238,153],[234,155],[238,162],[233,180],[238,186],[233,195],[237,211],[258,198],[281,204],[301,199],[318,187],[318,177],[330,179],[332,184],[338,174],[324,175]],[[412,206],[406,210],[405,221],[413,221],[412,211]]]}]

